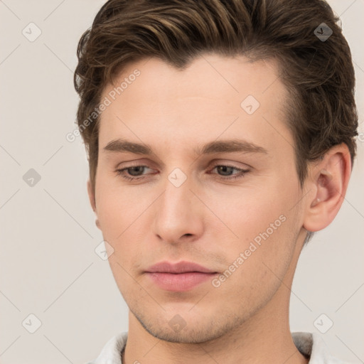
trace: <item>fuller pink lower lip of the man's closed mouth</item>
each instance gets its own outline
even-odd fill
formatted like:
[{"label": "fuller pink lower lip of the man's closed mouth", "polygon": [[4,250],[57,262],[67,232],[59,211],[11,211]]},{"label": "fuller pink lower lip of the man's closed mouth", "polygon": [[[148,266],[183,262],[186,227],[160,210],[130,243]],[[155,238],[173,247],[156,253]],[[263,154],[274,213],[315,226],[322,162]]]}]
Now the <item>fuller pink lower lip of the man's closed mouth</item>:
[{"label": "fuller pink lower lip of the man's closed mouth", "polygon": [[212,279],[217,273],[186,272],[186,273],[159,273],[146,272],[148,277],[161,289],[166,291],[188,291],[203,282]]}]

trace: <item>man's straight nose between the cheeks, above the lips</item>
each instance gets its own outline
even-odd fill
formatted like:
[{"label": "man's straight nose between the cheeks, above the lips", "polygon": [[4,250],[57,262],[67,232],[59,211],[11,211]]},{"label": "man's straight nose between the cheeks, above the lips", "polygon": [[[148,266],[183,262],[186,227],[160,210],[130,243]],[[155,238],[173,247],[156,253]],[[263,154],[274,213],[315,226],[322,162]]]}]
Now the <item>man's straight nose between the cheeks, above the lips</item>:
[{"label": "man's straight nose between the cheeks, above the lips", "polygon": [[164,193],[154,205],[154,233],[169,244],[197,240],[203,234],[204,208],[196,198],[198,190],[192,178],[187,178],[181,186],[166,178],[164,187]]}]

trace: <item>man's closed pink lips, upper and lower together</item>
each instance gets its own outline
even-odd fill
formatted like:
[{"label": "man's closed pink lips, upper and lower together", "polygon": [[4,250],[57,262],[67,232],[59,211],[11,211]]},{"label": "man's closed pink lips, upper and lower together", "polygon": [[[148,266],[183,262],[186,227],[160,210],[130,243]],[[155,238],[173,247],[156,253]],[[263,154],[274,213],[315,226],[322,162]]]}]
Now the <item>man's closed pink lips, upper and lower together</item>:
[{"label": "man's closed pink lips, upper and lower together", "polygon": [[193,262],[159,262],[146,270],[146,275],[166,291],[188,291],[218,274]]}]

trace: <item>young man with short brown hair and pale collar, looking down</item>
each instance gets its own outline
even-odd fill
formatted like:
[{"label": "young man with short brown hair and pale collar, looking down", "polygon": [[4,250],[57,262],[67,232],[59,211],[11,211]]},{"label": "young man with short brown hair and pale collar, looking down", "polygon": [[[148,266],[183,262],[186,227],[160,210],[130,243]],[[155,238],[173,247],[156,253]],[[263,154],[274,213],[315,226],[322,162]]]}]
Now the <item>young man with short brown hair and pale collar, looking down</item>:
[{"label": "young man with short brown hair and pale collar, looking down", "polygon": [[337,20],[321,0],[102,6],[77,122],[129,331],[91,363],[339,363],[289,330],[299,254],[355,157]]}]

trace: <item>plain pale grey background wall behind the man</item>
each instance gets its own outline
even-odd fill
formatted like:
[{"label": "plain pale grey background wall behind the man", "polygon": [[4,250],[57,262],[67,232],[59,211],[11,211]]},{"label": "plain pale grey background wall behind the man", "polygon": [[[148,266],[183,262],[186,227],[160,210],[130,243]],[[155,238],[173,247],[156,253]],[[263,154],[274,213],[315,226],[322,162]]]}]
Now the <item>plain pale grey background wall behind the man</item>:
[{"label": "plain pale grey background wall behind the man", "polygon": [[[0,1],[2,364],[85,363],[127,331],[127,305],[95,253],[85,148],[65,138],[75,129],[77,42],[104,2]],[[291,331],[318,332],[333,355],[363,363],[364,0],[329,3],[353,53],[358,157],[340,213],[301,254]]]}]

